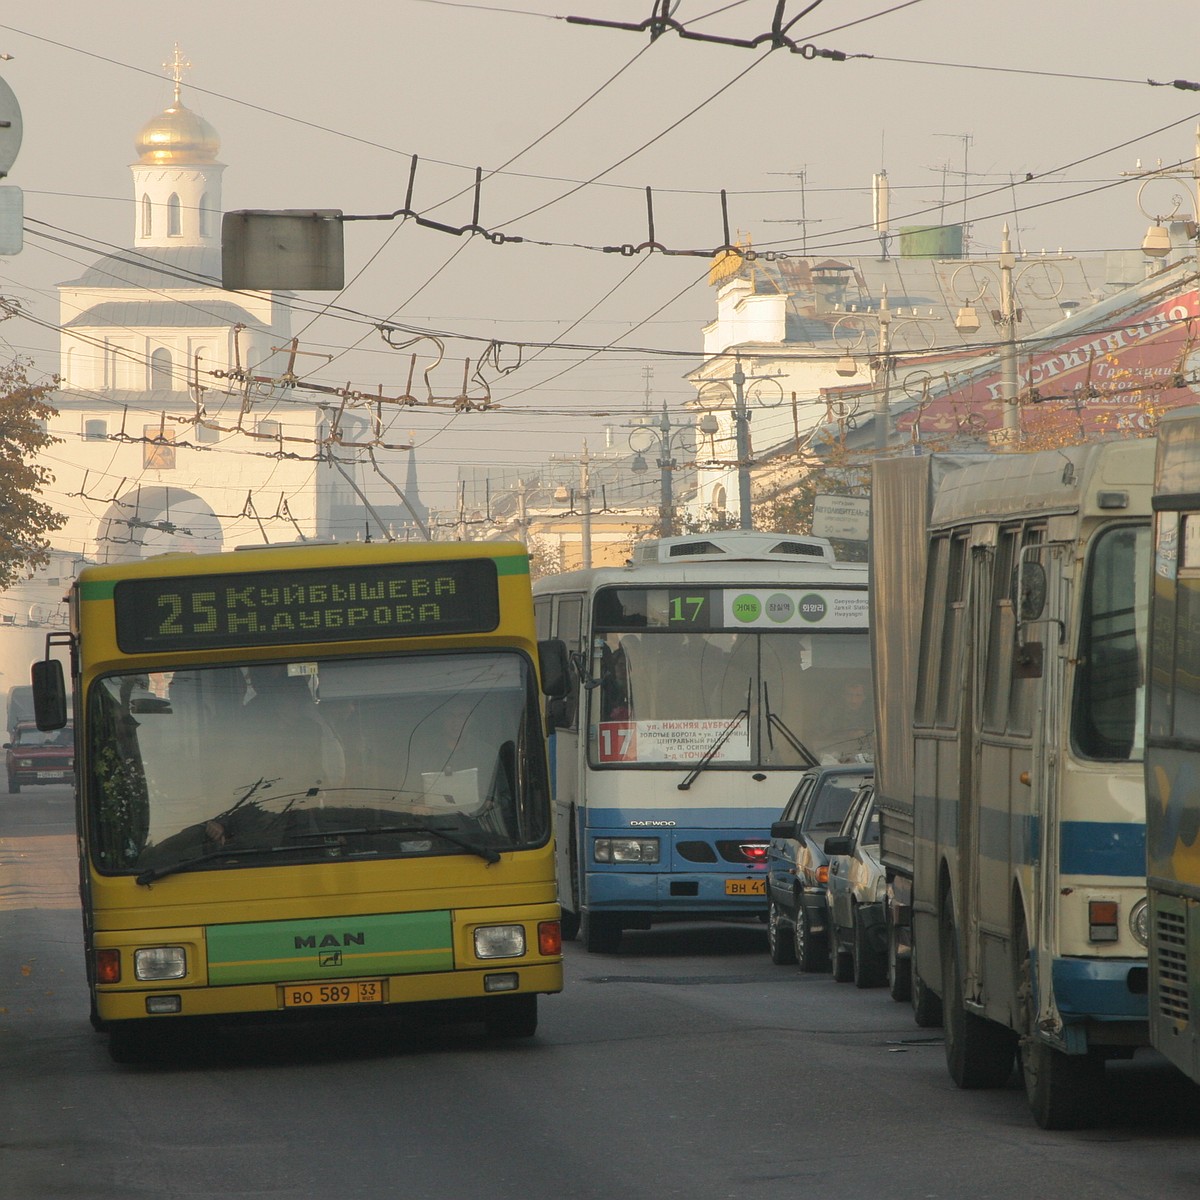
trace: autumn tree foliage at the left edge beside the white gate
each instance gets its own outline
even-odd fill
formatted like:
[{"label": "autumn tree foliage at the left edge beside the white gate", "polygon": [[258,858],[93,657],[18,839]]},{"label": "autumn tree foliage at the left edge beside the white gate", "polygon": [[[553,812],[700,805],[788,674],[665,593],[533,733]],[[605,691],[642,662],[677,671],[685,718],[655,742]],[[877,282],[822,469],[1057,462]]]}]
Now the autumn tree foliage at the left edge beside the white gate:
[{"label": "autumn tree foliage at the left edge beside the white gate", "polygon": [[40,499],[54,476],[37,461],[62,440],[46,432],[58,380],[30,383],[29,368],[26,359],[0,365],[0,589],[49,560],[47,534],[66,520]]}]

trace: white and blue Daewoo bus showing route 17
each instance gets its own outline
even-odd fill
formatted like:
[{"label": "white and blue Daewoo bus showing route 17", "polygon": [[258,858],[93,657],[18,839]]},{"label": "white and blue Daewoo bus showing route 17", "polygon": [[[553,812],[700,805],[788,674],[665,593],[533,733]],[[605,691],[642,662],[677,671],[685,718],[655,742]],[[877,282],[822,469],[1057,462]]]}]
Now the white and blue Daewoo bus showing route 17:
[{"label": "white and blue Daewoo bus showing route 17", "polygon": [[564,934],[612,953],[625,929],[764,916],[800,772],[874,749],[865,564],[820,538],[665,538],[534,604],[578,673],[551,706]]}]

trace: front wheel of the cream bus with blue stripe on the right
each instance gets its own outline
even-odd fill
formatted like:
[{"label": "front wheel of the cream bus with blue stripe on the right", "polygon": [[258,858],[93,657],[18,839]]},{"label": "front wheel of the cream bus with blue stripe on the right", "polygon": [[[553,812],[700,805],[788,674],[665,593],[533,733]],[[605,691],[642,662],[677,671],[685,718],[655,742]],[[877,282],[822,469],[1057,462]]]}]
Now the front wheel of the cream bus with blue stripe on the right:
[{"label": "front wheel of the cream bus with blue stripe on the right", "polygon": [[1043,1129],[1090,1129],[1098,1116],[1097,1099],[1104,1086],[1104,1060],[1096,1054],[1063,1054],[1037,1037],[1037,1001],[1028,936],[1024,926],[1016,940],[1016,954],[1020,1063],[1030,1111]]}]

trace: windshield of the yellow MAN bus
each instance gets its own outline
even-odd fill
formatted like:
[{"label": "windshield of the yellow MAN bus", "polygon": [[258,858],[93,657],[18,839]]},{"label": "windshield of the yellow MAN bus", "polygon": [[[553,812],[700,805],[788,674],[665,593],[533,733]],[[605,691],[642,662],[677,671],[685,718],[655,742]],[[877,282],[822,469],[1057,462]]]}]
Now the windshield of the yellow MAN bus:
[{"label": "windshield of the yellow MAN bus", "polygon": [[534,680],[515,653],[120,673],[89,697],[104,872],[542,845]]}]

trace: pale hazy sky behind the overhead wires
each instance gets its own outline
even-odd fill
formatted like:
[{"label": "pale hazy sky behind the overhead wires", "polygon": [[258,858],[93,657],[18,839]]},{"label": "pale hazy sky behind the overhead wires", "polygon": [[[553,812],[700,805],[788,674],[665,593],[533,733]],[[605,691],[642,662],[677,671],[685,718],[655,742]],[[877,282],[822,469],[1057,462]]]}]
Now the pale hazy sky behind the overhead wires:
[{"label": "pale hazy sky behind the overhead wires", "polygon": [[[671,248],[722,241],[724,188],[731,232],[761,250],[872,253],[870,182],[886,168],[894,227],[965,215],[972,248],[994,254],[1007,220],[1028,251],[1098,253],[1138,246],[1147,224],[1122,172],[1190,167],[1200,91],[1147,80],[1200,82],[1194,0],[810,5],[788,37],[841,62],[565,20],[636,23],[656,7],[8,0],[0,76],[24,142],[6,182],[25,192],[26,241],[0,260],[0,292],[34,319],[4,323],[0,341],[52,371],[54,284],[131,245],[133,139],[170,101],[162,65],[176,42],[192,64],[184,102],[221,134],[227,209],[391,212],[416,155],[424,216],[469,223],[482,168],[479,223],[530,240],[348,223],[346,292],[305,296],[294,317],[305,346],[334,356],[308,361],[320,383],[402,391],[408,355],[372,329],[384,319],[457,335],[442,368],[450,392],[490,340],[505,343],[504,366],[521,364],[496,378],[499,412],[404,415],[436,505],[450,503],[460,461],[598,445],[606,420],[642,409],[647,367],[655,407],[694,395],[683,376],[714,313],[707,262],[589,248],[647,240],[647,186]],[[788,0],[785,19],[804,7]],[[673,12],[695,32],[754,38],[775,10],[679,0]],[[1141,199],[1165,215],[1176,196],[1192,208],[1187,178]],[[314,319],[325,302],[337,313]]]}]

